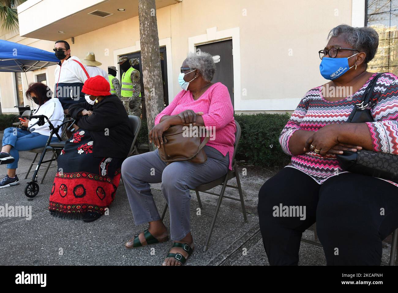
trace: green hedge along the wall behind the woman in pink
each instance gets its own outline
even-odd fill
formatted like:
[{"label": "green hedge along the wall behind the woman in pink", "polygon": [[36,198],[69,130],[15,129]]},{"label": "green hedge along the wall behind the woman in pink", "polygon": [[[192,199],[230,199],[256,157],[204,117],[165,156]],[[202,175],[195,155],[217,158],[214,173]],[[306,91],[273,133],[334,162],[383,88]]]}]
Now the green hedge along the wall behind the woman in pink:
[{"label": "green hedge along the wall behind the woman in pink", "polygon": [[[242,128],[236,159],[258,167],[280,167],[290,161],[279,145],[279,134],[290,118],[285,114],[240,114],[235,116]],[[142,121],[139,144],[148,144],[146,120]]]}]

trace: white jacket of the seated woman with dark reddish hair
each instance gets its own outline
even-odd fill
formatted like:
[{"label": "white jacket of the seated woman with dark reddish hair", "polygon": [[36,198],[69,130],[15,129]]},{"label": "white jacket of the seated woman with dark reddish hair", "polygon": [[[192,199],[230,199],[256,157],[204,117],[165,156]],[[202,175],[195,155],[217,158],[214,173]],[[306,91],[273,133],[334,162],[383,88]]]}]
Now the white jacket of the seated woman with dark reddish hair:
[{"label": "white jacket of the seated woman with dark reddish hair", "polygon": [[[45,115],[49,118],[51,121],[51,124],[54,125],[54,127],[57,127],[59,124],[62,123],[64,120],[64,110],[62,109],[61,103],[57,98],[51,98],[47,102],[45,102],[43,105],[41,105],[33,114],[32,116],[35,115]],[[29,121],[28,126],[32,126],[35,124],[39,119],[33,118],[32,120]],[[49,128],[49,123],[47,120],[45,120],[46,123],[42,126],[35,125],[33,128],[32,132],[37,132],[39,134],[43,134],[46,136],[50,136],[51,129]],[[61,129],[59,129],[58,134],[61,135]]]}]

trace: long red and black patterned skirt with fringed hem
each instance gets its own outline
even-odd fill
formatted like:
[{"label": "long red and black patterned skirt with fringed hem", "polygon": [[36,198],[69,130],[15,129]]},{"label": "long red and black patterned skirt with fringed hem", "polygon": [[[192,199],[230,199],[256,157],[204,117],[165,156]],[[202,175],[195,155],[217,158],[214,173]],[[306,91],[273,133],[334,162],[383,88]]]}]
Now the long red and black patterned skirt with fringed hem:
[{"label": "long red and black patterned skirt with fringed hem", "polygon": [[103,214],[113,201],[123,159],[94,157],[90,131],[79,129],[58,157],[58,171],[51,189],[49,210],[60,217],[84,212]]}]

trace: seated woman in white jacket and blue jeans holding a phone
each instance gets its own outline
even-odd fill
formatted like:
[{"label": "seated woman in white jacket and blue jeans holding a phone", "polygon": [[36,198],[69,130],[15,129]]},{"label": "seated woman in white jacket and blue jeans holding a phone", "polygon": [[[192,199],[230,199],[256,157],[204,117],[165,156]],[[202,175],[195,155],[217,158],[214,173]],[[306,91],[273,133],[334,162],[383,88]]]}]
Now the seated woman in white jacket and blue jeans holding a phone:
[{"label": "seated woman in white jacket and blue jeans holding a phone", "polygon": [[[64,112],[61,103],[57,98],[51,98],[53,92],[43,83],[31,83],[27,89],[26,98],[33,100],[39,108],[33,115],[45,115],[55,127],[62,123]],[[29,127],[37,122],[38,119],[21,121],[23,126]],[[9,127],[4,130],[2,149],[0,153],[0,165],[7,165],[7,175],[0,181],[0,188],[20,184],[16,169],[18,167],[18,151],[27,151],[37,147],[44,147],[50,136],[49,123],[35,125],[32,132],[20,128]],[[60,134],[61,130],[59,130]],[[53,137],[57,140],[57,136]]]}]

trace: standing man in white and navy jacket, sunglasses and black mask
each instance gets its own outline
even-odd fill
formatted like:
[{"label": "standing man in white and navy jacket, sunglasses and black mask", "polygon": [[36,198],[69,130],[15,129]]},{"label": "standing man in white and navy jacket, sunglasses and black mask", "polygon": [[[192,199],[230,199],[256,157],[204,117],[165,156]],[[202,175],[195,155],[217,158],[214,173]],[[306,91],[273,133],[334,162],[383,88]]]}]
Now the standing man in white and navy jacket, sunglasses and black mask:
[{"label": "standing man in white and navy jacket, sunglasses and black mask", "polygon": [[68,114],[70,105],[85,100],[82,88],[90,76],[80,59],[70,55],[67,41],[56,41],[54,52],[60,60],[55,68],[54,97],[59,98],[64,113]]}]

